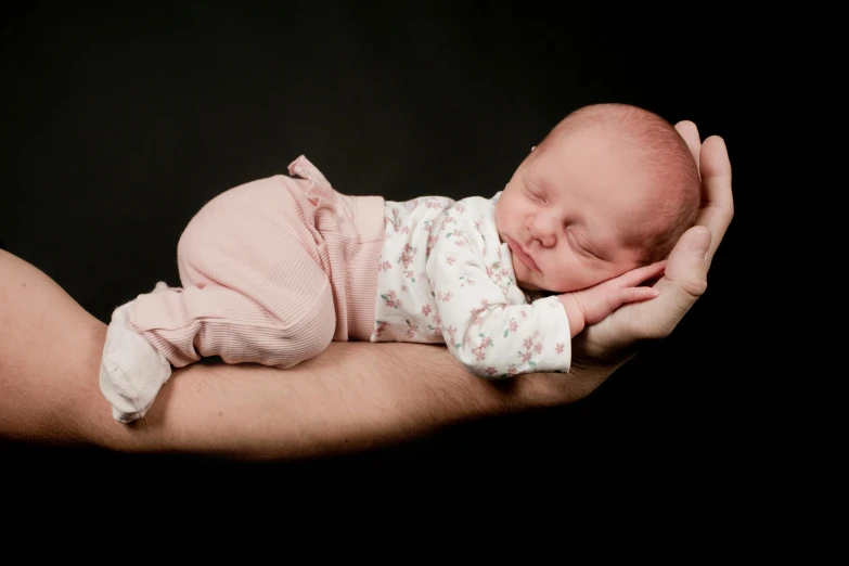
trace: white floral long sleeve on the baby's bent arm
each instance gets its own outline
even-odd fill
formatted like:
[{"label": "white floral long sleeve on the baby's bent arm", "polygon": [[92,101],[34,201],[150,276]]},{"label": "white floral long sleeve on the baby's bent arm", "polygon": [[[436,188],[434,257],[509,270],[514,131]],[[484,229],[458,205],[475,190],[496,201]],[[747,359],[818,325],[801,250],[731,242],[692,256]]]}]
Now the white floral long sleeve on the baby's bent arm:
[{"label": "white floral long sleeve on the baby's bent arm", "polygon": [[563,304],[556,296],[527,301],[493,203],[458,201],[439,217],[435,235],[427,276],[448,349],[481,377],[567,372],[571,335]]}]

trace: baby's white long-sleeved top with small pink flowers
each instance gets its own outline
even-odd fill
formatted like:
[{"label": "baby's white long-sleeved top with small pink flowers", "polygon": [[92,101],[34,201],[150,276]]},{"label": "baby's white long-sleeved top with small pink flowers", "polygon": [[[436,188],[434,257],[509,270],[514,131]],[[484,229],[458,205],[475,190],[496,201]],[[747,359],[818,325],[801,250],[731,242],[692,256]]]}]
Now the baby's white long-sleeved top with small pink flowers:
[{"label": "baby's white long-sleeved top with small pink flowers", "polygon": [[445,343],[488,378],[569,370],[566,310],[517,286],[496,229],[499,196],[385,203],[371,342]]}]

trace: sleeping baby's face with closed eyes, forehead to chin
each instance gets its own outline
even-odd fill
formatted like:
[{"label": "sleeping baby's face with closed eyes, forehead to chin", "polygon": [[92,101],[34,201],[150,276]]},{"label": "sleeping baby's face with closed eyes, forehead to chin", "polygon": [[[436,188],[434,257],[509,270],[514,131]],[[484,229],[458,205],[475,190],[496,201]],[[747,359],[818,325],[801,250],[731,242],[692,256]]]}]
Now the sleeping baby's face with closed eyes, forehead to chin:
[{"label": "sleeping baby's face with closed eyes, forehead to chin", "polygon": [[632,153],[609,136],[575,132],[516,169],[496,226],[520,287],[566,293],[643,265],[644,250],[626,242],[663,228],[653,215],[658,195]]}]

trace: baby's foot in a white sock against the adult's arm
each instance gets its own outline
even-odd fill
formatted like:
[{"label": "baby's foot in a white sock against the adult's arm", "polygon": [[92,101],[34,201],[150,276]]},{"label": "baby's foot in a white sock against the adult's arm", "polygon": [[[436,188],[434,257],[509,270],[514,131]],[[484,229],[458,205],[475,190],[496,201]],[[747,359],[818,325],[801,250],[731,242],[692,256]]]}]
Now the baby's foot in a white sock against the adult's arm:
[{"label": "baby's foot in a white sock against the adult's arm", "polygon": [[130,324],[131,306],[128,303],[112,313],[100,366],[100,389],[120,423],[144,416],[171,376],[168,360]]}]

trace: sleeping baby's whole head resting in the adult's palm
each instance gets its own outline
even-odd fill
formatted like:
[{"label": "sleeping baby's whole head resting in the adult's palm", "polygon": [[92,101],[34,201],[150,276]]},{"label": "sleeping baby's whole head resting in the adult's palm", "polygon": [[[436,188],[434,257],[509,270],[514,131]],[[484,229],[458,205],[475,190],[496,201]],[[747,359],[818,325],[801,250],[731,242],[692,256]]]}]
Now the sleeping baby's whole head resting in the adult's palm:
[{"label": "sleeping baby's whole head resting in the adult's palm", "polygon": [[664,118],[595,104],[564,118],[496,207],[520,287],[567,293],[667,257],[695,222],[698,169]]}]

